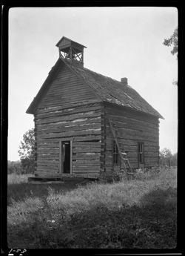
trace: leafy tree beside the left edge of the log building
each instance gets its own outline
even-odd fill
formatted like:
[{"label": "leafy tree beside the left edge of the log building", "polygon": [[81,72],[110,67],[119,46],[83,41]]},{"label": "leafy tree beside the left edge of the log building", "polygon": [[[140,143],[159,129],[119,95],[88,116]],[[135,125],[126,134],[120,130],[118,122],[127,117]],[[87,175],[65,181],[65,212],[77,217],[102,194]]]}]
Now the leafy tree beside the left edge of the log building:
[{"label": "leafy tree beside the left edge of the log building", "polygon": [[22,168],[26,173],[33,172],[35,168],[35,143],[34,128],[32,128],[23,135],[18,151]]}]

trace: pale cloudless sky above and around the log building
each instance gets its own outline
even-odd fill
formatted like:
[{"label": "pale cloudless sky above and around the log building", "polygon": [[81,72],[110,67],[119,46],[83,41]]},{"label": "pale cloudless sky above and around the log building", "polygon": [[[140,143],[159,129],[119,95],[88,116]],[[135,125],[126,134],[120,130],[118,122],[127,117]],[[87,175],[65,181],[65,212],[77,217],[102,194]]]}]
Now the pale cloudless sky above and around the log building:
[{"label": "pale cloudless sky above and around the log building", "polygon": [[132,86],[164,119],[160,150],[178,150],[178,61],[164,39],[178,27],[175,7],[13,7],[9,13],[8,160],[19,160],[34,127],[27,108],[58,59],[62,36],[85,45],[84,67]]}]

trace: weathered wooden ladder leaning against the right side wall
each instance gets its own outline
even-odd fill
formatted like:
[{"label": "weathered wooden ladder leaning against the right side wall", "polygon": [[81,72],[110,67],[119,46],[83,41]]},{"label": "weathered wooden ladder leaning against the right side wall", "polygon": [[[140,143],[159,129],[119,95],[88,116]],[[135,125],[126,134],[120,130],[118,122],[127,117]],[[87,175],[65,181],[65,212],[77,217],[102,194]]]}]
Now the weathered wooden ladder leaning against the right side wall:
[{"label": "weathered wooden ladder leaning against the right side wall", "polygon": [[121,159],[121,171],[127,170],[127,174],[132,174],[132,168],[130,166],[129,159],[127,157],[127,153],[126,152],[121,152],[121,148],[119,146],[118,139],[117,139],[116,134],[115,134],[115,131],[117,131],[117,128],[115,128],[115,129],[113,128],[114,124],[113,124],[112,120],[109,119],[109,122],[110,122],[110,128],[111,128],[111,131],[112,131],[112,135],[114,137],[115,143],[116,143],[117,148],[118,148],[118,153],[119,153],[120,159]]}]

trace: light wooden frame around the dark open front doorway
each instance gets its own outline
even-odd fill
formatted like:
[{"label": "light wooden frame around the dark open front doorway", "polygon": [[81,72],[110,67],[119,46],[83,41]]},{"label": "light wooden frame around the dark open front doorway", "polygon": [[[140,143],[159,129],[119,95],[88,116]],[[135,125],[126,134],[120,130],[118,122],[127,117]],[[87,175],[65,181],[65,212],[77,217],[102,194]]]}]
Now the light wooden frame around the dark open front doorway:
[{"label": "light wooden frame around the dark open front doorway", "polygon": [[73,139],[71,138],[63,138],[59,140],[59,173],[64,175],[64,154],[62,151],[62,142],[70,141],[70,174],[73,174]]}]

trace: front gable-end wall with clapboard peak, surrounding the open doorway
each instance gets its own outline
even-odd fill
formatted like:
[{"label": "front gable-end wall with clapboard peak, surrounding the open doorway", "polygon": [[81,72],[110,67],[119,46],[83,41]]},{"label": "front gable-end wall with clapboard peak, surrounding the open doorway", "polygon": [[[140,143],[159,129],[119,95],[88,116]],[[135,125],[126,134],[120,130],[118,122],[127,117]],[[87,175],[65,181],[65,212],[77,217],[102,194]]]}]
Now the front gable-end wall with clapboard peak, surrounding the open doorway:
[{"label": "front gable-end wall with clapboard peak, surrounding the open doorway", "polygon": [[73,141],[73,175],[99,175],[101,104],[65,65],[61,65],[39,103],[34,120],[37,176],[61,176],[59,143],[62,140]]}]

